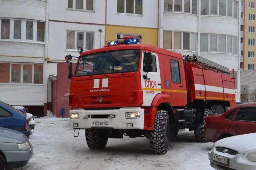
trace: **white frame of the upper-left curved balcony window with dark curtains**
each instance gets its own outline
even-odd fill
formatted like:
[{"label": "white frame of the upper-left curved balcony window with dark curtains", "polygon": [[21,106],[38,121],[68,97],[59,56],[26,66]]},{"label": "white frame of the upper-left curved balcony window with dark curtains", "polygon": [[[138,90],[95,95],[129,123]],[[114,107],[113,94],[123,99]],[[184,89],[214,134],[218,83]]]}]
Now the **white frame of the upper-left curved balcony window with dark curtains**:
[{"label": "white frame of the upper-left curved balcony window with dark curtains", "polygon": [[[36,20],[30,20],[30,19],[16,19],[16,18],[4,18],[4,19],[10,19],[10,35],[9,39],[1,39],[0,41],[17,41],[17,42],[33,42],[33,43],[39,43],[39,44],[45,44],[45,33],[46,33],[46,23],[44,21],[36,21]],[[21,20],[21,39],[14,39],[13,33],[14,33],[14,20]],[[26,40],[26,21],[33,21],[33,39],[32,40]],[[37,41],[37,22],[43,22],[44,23],[44,41]],[[0,18],[0,33],[2,33],[2,18]]]}]

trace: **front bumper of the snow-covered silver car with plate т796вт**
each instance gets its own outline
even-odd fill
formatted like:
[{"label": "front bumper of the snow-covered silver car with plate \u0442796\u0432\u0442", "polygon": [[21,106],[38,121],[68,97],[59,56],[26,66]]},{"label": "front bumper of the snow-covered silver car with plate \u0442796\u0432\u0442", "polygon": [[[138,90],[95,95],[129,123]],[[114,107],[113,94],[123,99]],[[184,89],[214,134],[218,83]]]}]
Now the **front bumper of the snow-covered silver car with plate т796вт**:
[{"label": "front bumper of the snow-covered silver car with plate \u0442796\u0432\u0442", "polygon": [[[227,157],[228,158],[228,165],[223,165],[221,163],[215,162],[212,159],[212,155],[216,154],[219,156]],[[213,148],[209,152],[209,159],[211,162],[211,166],[217,170],[226,170],[226,169],[232,169],[232,170],[238,170],[238,169],[246,169],[246,170],[255,170],[256,169],[256,162],[249,161],[244,157],[244,154],[236,154],[236,155],[230,155],[228,153],[222,153],[216,151],[216,148]]]}]

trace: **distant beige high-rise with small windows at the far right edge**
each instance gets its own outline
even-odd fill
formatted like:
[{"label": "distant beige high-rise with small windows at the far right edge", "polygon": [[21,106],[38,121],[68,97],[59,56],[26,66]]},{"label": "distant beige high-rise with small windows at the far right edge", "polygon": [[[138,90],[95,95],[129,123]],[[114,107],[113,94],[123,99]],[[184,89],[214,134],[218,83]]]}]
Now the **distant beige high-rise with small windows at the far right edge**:
[{"label": "distant beige high-rise with small windows at the far right edge", "polygon": [[[256,58],[255,58],[255,9],[256,0],[242,1],[241,2],[241,68],[243,70],[255,70],[256,69]],[[243,22],[242,22],[243,21]]]}]

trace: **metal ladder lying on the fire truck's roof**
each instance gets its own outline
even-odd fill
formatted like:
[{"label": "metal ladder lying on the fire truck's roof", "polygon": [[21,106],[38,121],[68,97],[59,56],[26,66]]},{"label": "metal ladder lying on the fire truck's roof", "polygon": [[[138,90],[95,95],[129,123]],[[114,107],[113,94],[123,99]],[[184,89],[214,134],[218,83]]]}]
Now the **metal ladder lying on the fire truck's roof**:
[{"label": "metal ladder lying on the fire truck's roof", "polygon": [[214,63],[210,60],[207,60],[204,57],[200,57],[199,55],[193,54],[191,56],[189,55],[183,55],[184,60],[189,63],[195,63],[200,65],[205,70],[212,70],[214,72],[218,72],[221,74],[231,74],[231,71],[227,67],[224,67],[220,64]]}]

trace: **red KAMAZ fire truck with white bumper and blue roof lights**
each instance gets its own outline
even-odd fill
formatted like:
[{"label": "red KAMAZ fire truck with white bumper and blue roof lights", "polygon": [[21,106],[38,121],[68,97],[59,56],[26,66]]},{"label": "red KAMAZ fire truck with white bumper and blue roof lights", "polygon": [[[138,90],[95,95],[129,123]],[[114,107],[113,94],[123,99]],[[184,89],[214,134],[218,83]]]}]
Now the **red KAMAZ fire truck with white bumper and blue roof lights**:
[{"label": "red KAMAZ fire truck with white bumper and blue roof lights", "polygon": [[75,73],[72,56],[65,57],[71,79],[70,126],[85,129],[92,149],[125,135],[147,137],[151,151],[164,154],[169,140],[185,128],[206,142],[206,116],[236,105],[232,72],[198,55],[182,56],[140,41],[125,37],[104,48],[78,48]]}]

